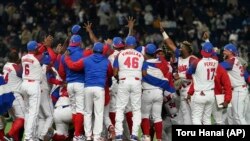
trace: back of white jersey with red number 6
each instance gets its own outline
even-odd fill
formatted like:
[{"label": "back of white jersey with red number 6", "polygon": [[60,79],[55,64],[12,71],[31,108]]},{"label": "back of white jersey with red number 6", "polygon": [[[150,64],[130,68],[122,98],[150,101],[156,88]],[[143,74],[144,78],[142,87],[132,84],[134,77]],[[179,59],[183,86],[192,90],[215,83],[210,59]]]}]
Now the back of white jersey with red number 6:
[{"label": "back of white jersey with red number 6", "polygon": [[42,79],[42,66],[38,59],[33,54],[27,54],[22,57],[23,74],[24,80],[37,80]]}]

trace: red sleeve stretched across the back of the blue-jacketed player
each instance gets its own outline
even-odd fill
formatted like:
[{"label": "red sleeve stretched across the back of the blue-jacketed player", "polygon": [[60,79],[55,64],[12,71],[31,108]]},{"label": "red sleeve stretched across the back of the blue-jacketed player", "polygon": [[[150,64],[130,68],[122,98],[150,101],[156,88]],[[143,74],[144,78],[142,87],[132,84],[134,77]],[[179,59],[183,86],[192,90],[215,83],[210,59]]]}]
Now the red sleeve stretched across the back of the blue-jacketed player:
[{"label": "red sleeve stretched across the back of the blue-jacketed player", "polygon": [[74,71],[80,71],[83,69],[83,59],[79,59],[76,62],[73,62],[69,56],[65,56],[65,63],[69,67],[69,69]]}]

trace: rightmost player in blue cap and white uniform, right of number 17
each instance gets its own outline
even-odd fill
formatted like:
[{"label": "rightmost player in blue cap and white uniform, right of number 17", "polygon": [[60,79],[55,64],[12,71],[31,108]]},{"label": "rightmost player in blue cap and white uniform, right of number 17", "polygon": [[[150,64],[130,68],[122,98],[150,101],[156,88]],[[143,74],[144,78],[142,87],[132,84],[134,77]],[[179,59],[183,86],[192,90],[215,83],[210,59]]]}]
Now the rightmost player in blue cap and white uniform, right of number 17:
[{"label": "rightmost player in blue cap and white uniform, right of number 17", "polygon": [[235,45],[225,45],[223,54],[225,60],[221,65],[227,70],[232,85],[232,107],[228,109],[228,123],[247,124],[245,112],[248,104],[248,90],[244,78],[245,69],[236,57]]}]

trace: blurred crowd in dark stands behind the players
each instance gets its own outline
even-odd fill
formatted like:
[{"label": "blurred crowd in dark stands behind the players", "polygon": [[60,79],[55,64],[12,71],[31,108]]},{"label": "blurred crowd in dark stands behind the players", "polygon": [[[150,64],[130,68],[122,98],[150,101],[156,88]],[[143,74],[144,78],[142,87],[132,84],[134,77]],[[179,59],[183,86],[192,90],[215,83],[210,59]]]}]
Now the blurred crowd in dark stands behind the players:
[{"label": "blurred crowd in dark stands behind the players", "polygon": [[[125,37],[128,16],[136,19],[133,34],[138,45],[163,45],[161,21],[177,45],[183,40],[192,42],[195,54],[201,47],[201,35],[210,31],[213,45],[220,49],[233,42],[249,62],[249,7],[248,0],[1,0],[0,66],[6,52],[25,52],[31,39],[39,42],[52,34],[55,44],[63,43],[74,24],[91,21],[101,40]],[[81,35],[84,45],[90,45],[84,30]]]}]

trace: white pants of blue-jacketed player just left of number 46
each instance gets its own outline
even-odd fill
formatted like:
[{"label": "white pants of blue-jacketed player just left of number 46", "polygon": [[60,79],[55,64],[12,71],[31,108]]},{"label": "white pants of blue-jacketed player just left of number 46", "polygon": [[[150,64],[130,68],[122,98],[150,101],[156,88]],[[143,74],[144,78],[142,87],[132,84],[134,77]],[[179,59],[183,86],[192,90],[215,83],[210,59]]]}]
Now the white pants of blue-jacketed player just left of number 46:
[{"label": "white pants of blue-jacketed player just left of number 46", "polygon": [[[104,88],[86,87],[85,88],[85,114],[84,129],[85,135],[91,137],[94,134],[94,140],[101,136],[103,129],[104,116]],[[94,110],[94,111],[93,111]],[[92,131],[92,114],[95,114]]]}]

